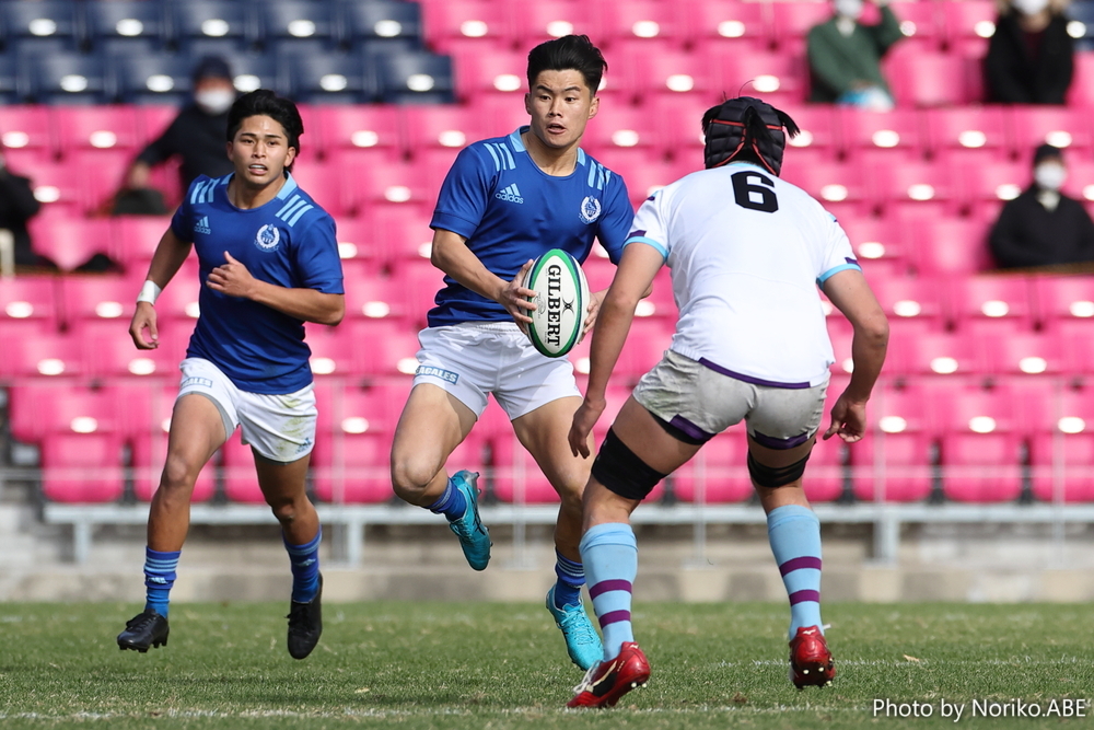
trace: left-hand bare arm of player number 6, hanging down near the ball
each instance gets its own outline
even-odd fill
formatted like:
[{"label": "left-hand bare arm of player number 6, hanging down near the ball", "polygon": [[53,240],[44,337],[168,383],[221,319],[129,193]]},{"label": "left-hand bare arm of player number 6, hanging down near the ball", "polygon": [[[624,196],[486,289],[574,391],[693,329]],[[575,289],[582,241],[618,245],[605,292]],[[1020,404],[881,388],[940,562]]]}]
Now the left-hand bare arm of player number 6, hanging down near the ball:
[{"label": "left-hand bare arm of player number 6, hanging down near the ball", "polygon": [[605,391],[630,332],[635,308],[645,296],[664,262],[660,251],[644,243],[631,243],[624,248],[619,268],[601,305],[596,329],[593,331],[585,397],[570,427],[570,450],[574,455],[589,456],[589,432],[604,413]]}]

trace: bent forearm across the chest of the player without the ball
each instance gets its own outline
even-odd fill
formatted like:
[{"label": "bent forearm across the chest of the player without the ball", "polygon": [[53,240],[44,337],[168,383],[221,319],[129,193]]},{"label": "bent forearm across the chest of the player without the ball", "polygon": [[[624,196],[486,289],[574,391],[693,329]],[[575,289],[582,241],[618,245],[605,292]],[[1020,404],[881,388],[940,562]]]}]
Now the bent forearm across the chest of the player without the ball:
[{"label": "bent forearm across the chest of the player without the ball", "polygon": [[315,289],[290,289],[261,281],[251,276],[247,267],[226,251],[224,264],[209,273],[206,286],[229,297],[265,304],[304,322],[336,325],[346,314],[344,294],[327,294]]}]

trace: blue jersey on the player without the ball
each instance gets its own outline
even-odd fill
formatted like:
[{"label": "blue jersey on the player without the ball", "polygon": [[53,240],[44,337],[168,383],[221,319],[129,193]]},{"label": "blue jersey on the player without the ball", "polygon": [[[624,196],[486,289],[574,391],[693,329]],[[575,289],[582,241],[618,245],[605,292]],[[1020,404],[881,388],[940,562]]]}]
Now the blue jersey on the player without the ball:
[{"label": "blue jersey on the player without the ball", "polygon": [[[234,174],[234,173],[233,173]],[[269,202],[244,210],[228,199],[232,175],[199,176],[171,220],[200,264],[198,317],[187,357],[213,362],[240,390],[293,393],[312,382],[304,323],[249,299],[206,286],[229,252],[261,281],[327,294],[342,290],[335,222],[289,175]]]}]

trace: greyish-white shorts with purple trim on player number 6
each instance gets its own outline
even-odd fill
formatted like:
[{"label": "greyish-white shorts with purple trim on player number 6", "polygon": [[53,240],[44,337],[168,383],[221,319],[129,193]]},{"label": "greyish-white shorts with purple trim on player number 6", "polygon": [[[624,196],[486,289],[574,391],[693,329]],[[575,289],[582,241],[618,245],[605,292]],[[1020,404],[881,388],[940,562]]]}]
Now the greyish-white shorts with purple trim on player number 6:
[{"label": "greyish-white shorts with purple trim on player number 6", "polygon": [[701,443],[743,419],[759,445],[793,449],[821,427],[827,390],[827,381],[801,389],[752,383],[667,350],[639,381],[635,399]]}]

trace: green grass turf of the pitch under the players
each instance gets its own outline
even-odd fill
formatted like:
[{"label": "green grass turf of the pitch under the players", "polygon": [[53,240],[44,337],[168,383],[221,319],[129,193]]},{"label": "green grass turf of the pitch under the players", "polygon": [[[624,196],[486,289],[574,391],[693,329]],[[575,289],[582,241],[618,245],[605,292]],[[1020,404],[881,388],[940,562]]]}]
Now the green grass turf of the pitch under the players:
[{"label": "green grass turf of the pitch under the players", "polygon": [[[604,711],[562,709],[581,672],[542,606],[331,604],[302,662],[281,604],[178,604],[170,646],[147,654],[114,641],[136,609],[0,604],[0,728],[954,727],[944,698],[962,728],[1032,729],[1061,723],[973,719],[971,703],[1094,697],[1084,605],[827,605],[839,676],[799,692],[783,605],[639,603],[653,675]],[[875,698],[934,717],[874,717]]]}]

